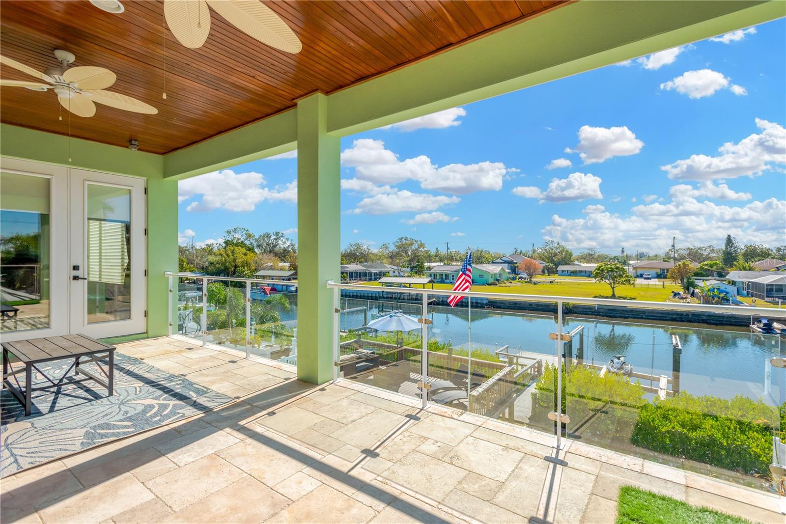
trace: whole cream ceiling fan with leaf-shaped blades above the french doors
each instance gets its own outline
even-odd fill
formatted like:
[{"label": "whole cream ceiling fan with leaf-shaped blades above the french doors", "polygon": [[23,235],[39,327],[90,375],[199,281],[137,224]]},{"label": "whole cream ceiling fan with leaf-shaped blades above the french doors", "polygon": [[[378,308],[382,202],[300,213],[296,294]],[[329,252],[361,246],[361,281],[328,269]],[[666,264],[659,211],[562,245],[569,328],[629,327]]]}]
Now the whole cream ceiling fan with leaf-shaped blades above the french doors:
[{"label": "whole cream ceiling fan with leaf-shaped blades above the french doors", "polygon": [[75,57],[72,53],[61,49],[56,49],[54,56],[62,64],[61,67],[49,68],[45,72],[20,64],[17,60],[0,56],[0,64],[7,65],[9,68],[17,69],[46,82],[0,79],[0,86],[27,87],[34,91],[53,90],[57,93],[57,100],[60,101],[60,104],[78,116],[89,117],[95,115],[96,106],[94,102],[122,109],[123,111],[145,113],[147,115],[158,113],[158,109],[152,107],[152,105],[145,104],[143,101],[105,90],[107,87],[112,86],[117,79],[112,71],[94,66],[68,68],[68,64],[71,64]]}]

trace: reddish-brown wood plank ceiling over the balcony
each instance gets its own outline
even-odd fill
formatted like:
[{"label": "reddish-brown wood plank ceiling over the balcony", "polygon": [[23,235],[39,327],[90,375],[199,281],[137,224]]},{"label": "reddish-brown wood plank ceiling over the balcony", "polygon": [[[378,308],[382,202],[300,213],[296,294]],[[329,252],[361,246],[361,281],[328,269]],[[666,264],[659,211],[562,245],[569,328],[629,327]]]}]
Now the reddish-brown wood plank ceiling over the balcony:
[{"label": "reddish-brown wood plank ceiling over the balcony", "polygon": [[[74,137],[165,153],[295,104],[314,90],[330,93],[384,74],[479,35],[555,9],[560,0],[509,2],[391,0],[265,2],[303,42],[296,55],[244,35],[211,10],[200,49],[181,46],[163,24],[163,2],[124,0],[115,15],[89,2],[3,0],[0,53],[44,71],[54,49],[117,75],[111,90],[159,109],[140,115],[98,105],[70,119]],[[3,79],[35,80],[2,67]],[[162,98],[166,82],[167,99]],[[68,134],[68,114],[53,92],[5,87],[3,123]]]}]

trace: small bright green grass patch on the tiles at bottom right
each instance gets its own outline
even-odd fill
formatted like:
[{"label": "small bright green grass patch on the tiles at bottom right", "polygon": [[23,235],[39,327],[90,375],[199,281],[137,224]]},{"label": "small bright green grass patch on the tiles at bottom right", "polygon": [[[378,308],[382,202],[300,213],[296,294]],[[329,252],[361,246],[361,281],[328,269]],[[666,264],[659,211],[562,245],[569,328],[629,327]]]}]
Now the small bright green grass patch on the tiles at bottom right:
[{"label": "small bright green grass patch on the tiles at bottom right", "polygon": [[698,508],[644,489],[619,489],[617,524],[745,524],[750,521],[709,508]]}]

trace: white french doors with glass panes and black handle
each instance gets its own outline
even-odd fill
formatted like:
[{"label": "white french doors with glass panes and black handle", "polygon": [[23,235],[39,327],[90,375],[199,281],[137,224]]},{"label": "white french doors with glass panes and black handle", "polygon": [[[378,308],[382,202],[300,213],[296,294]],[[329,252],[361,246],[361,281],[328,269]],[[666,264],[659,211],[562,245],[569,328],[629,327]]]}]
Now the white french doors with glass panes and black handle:
[{"label": "white french doors with glass panes and black handle", "polygon": [[0,337],[145,332],[145,181],[0,159]]}]

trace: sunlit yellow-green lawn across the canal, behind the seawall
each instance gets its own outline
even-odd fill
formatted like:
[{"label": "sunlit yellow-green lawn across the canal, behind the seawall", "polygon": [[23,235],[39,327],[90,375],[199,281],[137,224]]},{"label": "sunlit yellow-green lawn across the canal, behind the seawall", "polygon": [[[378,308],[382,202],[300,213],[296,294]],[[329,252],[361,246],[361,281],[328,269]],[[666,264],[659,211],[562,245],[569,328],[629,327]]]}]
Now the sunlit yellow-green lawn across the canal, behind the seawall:
[{"label": "sunlit yellow-green lawn across the canal, behind the seawall", "polygon": [[[364,282],[364,285],[379,286],[379,282]],[[435,289],[450,290],[451,284],[434,284]],[[391,288],[391,291],[395,288]],[[617,298],[626,300],[644,300],[647,302],[664,302],[671,296],[671,291],[681,289],[679,286],[666,284],[666,288],[661,287],[634,287],[624,286],[617,288]],[[502,284],[498,286],[473,285],[472,291],[483,293],[512,293],[516,295],[542,295],[542,296],[569,296],[582,297],[587,299],[610,299],[612,298],[612,288],[608,284],[595,281],[577,280],[575,282],[555,282],[554,284],[527,284],[516,282]]]}]

